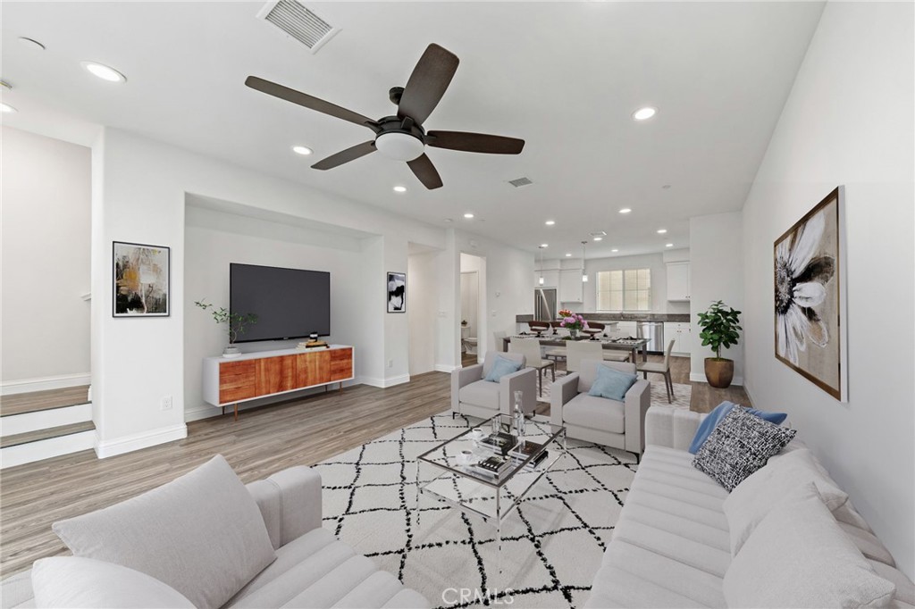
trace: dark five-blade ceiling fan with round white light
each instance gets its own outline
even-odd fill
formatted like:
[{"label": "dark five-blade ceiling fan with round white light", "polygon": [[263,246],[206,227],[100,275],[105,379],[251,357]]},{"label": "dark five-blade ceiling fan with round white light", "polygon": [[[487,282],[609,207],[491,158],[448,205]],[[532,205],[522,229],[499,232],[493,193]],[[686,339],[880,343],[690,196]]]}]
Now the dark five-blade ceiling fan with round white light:
[{"label": "dark five-blade ceiling fan with round white light", "polygon": [[397,114],[382,117],[377,121],[256,76],[249,76],[244,84],[286,102],[297,103],[350,123],[361,124],[375,133],[373,140],[330,155],[313,165],[313,169],[332,169],[378,150],[382,155],[406,161],[419,181],[426,188],[432,189],[441,187],[442,179],[438,176],[436,166],[432,165],[432,161],[424,153],[427,145],[490,155],[517,155],[524,147],[524,140],[501,135],[425,131],[425,119],[435,110],[457,70],[457,56],[436,44],[429,45],[413,69],[406,86],[393,87],[388,92],[389,99],[397,106]]}]

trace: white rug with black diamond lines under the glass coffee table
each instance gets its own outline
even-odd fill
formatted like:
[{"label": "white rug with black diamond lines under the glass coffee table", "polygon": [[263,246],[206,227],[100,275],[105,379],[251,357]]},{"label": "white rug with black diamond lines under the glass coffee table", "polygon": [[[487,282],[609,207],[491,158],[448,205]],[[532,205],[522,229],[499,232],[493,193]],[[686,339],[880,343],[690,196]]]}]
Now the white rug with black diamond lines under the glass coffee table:
[{"label": "white rug with black diamond lines under the glass coffee table", "polygon": [[[666,401],[666,400],[665,400]],[[449,412],[315,465],[324,526],[423,593],[434,607],[580,607],[632,477],[632,454],[568,441],[569,454],[494,525],[431,497],[416,525],[415,458],[479,424]],[[434,475],[431,466],[423,478]]]}]

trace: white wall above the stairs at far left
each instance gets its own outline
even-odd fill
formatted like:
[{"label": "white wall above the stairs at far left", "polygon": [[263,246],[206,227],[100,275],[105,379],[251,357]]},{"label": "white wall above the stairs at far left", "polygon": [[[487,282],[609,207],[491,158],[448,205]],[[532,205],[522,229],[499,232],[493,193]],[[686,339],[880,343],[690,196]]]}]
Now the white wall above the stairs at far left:
[{"label": "white wall above the stairs at far left", "polygon": [[92,151],[3,127],[2,157],[3,390],[88,383]]}]

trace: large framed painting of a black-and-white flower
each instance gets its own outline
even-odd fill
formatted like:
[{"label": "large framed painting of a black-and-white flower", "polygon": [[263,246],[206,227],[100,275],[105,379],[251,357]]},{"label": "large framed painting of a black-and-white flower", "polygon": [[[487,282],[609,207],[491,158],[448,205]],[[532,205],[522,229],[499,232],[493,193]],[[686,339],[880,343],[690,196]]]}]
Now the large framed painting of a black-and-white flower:
[{"label": "large framed painting of a black-and-white flower", "polygon": [[848,401],[845,189],[837,187],[775,240],[775,357]]}]

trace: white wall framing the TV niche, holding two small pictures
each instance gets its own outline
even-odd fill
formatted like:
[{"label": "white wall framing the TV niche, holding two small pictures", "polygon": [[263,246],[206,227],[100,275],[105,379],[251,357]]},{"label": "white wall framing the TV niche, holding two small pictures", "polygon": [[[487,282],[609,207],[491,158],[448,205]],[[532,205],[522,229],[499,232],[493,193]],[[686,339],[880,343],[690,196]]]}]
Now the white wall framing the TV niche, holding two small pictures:
[{"label": "white wall framing the TV niche, holding two small pictures", "polygon": [[[171,247],[169,317],[113,319],[107,298],[92,302],[93,419],[100,455],[187,433],[185,305],[197,298],[185,291],[187,193],[380,235],[360,243],[362,260],[371,262],[357,271],[365,308],[353,323],[368,342],[355,347],[366,382],[387,386],[409,379],[406,315],[385,313],[384,273],[406,270],[407,240],[440,248],[444,230],[116,129],[104,130],[92,155],[93,292],[109,294],[113,240]],[[455,282],[457,275],[442,281]],[[171,410],[160,408],[165,396],[174,396]]]}]

